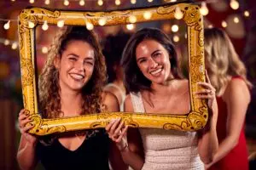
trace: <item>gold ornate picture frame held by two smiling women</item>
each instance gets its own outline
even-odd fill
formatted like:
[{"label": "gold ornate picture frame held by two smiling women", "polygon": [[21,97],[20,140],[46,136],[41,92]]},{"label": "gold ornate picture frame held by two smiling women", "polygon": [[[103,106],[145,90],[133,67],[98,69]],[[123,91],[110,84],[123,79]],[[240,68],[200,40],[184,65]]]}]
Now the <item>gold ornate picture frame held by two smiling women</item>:
[{"label": "gold ornate picture frame held by two smiling women", "polygon": [[[135,21],[175,19],[177,8],[181,20],[187,25],[189,51],[190,111],[186,115],[141,114],[131,112],[102,112],[84,116],[42,119],[38,113],[37,79],[35,74],[35,26],[113,26],[131,24]],[[148,14],[149,17],[145,17]],[[177,18],[177,17],[176,17]],[[30,133],[46,135],[81,129],[105,127],[110,119],[121,117],[130,127],[157,127],[181,131],[196,131],[203,128],[208,119],[205,99],[195,99],[196,82],[205,82],[203,25],[200,8],[190,3],[169,3],[150,8],[130,8],[108,12],[49,10],[26,8],[19,15],[20,70],[24,108],[30,112],[34,127]],[[87,28],[88,28],[87,27]]]}]

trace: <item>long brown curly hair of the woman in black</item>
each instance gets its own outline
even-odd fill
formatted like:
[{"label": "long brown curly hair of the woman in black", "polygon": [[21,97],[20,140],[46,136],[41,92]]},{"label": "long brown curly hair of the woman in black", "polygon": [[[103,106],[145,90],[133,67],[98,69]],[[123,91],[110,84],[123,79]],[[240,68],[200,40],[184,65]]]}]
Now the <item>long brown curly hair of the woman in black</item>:
[{"label": "long brown curly hair of the woman in black", "polygon": [[69,42],[79,40],[90,43],[95,52],[95,68],[90,81],[82,88],[83,103],[81,115],[98,113],[101,111],[102,87],[106,82],[106,65],[102,55],[102,48],[96,34],[88,31],[84,26],[67,26],[57,33],[50,48],[44,68],[39,76],[39,106],[43,118],[60,117],[61,97],[59,72],[55,68],[54,60],[67,48]]}]

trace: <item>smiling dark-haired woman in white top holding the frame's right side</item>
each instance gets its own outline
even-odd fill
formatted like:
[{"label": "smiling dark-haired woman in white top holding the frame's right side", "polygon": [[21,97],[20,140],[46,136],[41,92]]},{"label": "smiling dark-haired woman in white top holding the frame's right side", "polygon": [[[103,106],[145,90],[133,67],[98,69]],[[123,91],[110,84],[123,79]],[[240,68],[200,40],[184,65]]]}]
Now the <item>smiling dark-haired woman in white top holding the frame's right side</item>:
[{"label": "smiling dark-haired woman in white top holding the frame's right side", "polygon": [[[154,28],[137,31],[126,44],[121,64],[125,71],[125,111],[180,114],[189,112],[189,81],[177,67],[176,50],[165,33]],[[106,127],[116,142],[125,163],[134,169],[170,170],[204,169],[218,149],[216,122],[218,108],[215,89],[199,82],[198,99],[207,99],[209,122],[198,132],[181,132],[154,128],[124,127],[114,120]]]}]

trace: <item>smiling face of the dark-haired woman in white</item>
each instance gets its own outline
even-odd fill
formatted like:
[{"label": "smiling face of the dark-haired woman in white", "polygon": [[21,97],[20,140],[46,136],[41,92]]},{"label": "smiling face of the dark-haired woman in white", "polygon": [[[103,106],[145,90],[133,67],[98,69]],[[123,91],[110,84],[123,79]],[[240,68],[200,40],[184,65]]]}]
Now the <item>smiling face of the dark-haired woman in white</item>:
[{"label": "smiling face of the dark-haired woman in white", "polygon": [[159,42],[144,40],[137,45],[136,59],[139,69],[152,83],[165,83],[171,77],[169,54]]}]

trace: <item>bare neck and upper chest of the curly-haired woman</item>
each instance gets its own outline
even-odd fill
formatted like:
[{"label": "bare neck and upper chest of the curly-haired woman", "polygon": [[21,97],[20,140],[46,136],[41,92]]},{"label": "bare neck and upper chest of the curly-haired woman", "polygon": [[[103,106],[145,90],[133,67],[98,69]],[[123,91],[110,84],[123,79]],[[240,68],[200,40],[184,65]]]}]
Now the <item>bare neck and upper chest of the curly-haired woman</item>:
[{"label": "bare neck and upper chest of the curly-haired woman", "polygon": [[79,116],[81,112],[82,105],[82,95],[80,92],[61,92],[61,111],[63,111],[64,116]]}]

